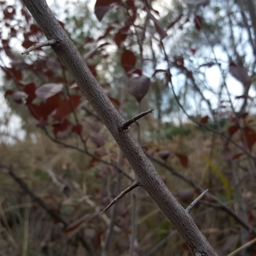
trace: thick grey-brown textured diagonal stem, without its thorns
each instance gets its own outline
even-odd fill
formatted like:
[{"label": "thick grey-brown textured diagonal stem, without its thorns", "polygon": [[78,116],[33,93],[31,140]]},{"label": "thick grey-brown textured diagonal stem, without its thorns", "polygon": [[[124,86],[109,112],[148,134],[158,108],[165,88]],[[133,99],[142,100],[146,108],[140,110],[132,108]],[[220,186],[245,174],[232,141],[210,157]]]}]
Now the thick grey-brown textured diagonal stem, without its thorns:
[{"label": "thick grey-brown textured diagonal stem, without its thorns", "polygon": [[124,152],[124,156],[136,173],[140,186],[148,192],[166,218],[185,239],[193,254],[197,256],[217,255],[196,227],[188,212],[164,185],[155,167],[148,160],[133,136],[131,129],[122,132],[120,132],[120,129],[118,130],[124,119],[92,76],[76,46],[61,28],[45,0],[23,0],[23,2],[47,39],[57,40],[57,44],[52,46],[52,49],[74,77],[76,83]]}]

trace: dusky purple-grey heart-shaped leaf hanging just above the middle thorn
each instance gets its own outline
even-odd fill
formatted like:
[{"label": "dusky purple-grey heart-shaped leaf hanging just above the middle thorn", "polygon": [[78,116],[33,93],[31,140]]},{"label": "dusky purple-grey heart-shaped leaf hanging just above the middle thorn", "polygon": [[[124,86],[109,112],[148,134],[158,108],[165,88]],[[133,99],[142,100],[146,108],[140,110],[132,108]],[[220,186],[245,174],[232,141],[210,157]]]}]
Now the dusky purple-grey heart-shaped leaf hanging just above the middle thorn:
[{"label": "dusky purple-grey heart-shaped leaf hanging just above the middle thorn", "polygon": [[147,76],[139,76],[131,78],[128,81],[128,92],[140,102],[149,90],[150,78]]}]

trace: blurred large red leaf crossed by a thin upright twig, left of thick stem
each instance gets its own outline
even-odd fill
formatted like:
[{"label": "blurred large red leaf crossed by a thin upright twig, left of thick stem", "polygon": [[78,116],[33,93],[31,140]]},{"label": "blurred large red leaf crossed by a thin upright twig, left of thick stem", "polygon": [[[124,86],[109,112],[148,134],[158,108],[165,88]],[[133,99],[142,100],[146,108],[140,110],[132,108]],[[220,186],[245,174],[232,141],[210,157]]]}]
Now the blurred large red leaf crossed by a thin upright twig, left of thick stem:
[{"label": "blurred large red leaf crossed by a thin upright twig, left of thick stem", "polygon": [[[70,95],[70,100],[72,102],[72,106],[73,106],[74,110],[79,105],[80,98],[81,98],[80,95]],[[65,98],[65,99],[60,100],[59,106],[56,110],[54,117],[55,117],[55,119],[59,120],[65,116],[69,115],[72,111],[73,110],[71,108],[70,101]]]}]

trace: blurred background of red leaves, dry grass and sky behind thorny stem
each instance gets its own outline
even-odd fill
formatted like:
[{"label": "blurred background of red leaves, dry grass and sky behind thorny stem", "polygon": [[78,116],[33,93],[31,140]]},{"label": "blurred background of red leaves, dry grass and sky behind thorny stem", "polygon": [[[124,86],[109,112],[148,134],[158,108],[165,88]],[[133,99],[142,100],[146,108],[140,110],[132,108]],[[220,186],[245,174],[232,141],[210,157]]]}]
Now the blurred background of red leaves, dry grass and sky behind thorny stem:
[{"label": "blurred background of red leaves, dry grass and sky behind thorny stem", "polygon": [[[256,236],[254,0],[47,1],[220,255]],[[21,1],[0,1],[0,255],[191,255]],[[236,255],[256,255],[254,244]]]}]

